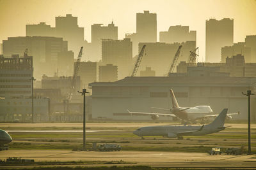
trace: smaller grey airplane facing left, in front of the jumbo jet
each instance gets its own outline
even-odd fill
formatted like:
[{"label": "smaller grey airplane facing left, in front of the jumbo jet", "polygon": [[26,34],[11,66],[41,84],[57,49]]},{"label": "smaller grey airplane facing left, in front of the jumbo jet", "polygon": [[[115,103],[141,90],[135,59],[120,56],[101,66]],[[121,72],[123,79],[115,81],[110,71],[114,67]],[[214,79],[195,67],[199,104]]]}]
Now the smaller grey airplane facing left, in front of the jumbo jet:
[{"label": "smaller grey airplane facing left, in front of the jumbo jet", "polygon": [[228,109],[223,109],[215,118],[215,120],[208,125],[191,126],[191,125],[163,125],[163,126],[149,126],[141,127],[133,133],[143,138],[143,136],[163,136],[167,138],[183,139],[183,136],[201,136],[205,134],[212,134],[223,131],[226,127],[225,119]]}]

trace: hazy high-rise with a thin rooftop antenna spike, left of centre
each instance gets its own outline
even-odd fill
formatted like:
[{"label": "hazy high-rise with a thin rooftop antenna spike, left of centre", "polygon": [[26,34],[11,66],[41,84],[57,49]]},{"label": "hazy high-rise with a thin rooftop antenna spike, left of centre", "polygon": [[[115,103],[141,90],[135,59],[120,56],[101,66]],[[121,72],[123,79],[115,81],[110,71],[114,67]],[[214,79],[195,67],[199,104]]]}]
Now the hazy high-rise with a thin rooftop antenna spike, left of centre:
[{"label": "hazy high-rise with a thin rooftop antenna spike, left of centre", "polygon": [[118,39],[118,27],[114,22],[108,24],[108,26],[102,26],[102,24],[92,25],[92,43],[88,46],[86,55],[93,60],[101,59],[101,42],[102,39]]}]

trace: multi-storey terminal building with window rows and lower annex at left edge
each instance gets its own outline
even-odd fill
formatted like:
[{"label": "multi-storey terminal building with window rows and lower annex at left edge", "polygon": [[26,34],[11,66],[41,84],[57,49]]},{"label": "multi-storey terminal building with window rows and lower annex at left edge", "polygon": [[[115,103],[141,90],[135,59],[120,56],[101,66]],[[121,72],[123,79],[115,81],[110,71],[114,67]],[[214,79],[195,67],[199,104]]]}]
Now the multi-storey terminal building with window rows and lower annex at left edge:
[{"label": "multi-storey terminal building with window rows and lower annex at left edge", "polygon": [[[31,122],[33,57],[0,55],[0,122]],[[35,122],[49,120],[49,98],[34,97]]]}]

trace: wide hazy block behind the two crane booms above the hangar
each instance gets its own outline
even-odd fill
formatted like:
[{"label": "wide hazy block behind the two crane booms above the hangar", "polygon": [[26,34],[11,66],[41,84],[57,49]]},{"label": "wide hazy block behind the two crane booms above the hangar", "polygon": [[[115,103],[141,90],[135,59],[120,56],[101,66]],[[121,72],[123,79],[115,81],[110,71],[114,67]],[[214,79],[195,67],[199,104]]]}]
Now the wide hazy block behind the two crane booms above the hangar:
[{"label": "wide hazy block behind the two crane booms above the hangar", "polygon": [[140,68],[151,67],[156,71],[156,76],[166,76],[173,61],[173,57],[180,45],[182,45],[182,52],[178,59],[180,61],[187,61],[190,52],[195,49],[195,41],[186,41],[186,43],[140,43],[139,49],[146,45],[147,53],[141,60]]}]

